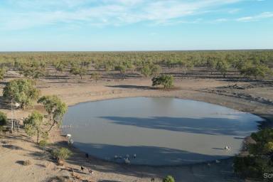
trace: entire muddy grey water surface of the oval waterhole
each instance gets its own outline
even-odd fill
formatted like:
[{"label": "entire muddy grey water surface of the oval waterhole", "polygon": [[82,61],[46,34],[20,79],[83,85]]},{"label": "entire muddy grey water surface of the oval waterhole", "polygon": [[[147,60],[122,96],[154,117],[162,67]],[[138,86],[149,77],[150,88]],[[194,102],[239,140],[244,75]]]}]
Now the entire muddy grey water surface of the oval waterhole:
[{"label": "entire muddy grey water surface of the oval waterhole", "polygon": [[129,155],[132,164],[191,164],[237,154],[261,120],[205,102],[132,97],[69,107],[64,124],[72,127],[63,132],[101,159],[119,162]]}]

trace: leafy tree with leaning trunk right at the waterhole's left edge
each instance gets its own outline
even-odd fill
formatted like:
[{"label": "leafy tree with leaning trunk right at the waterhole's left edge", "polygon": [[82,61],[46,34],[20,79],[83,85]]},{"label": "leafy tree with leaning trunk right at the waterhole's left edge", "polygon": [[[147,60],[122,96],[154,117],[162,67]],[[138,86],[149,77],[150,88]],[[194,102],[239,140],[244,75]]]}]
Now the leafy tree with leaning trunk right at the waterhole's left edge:
[{"label": "leafy tree with leaning trunk right at the waterhole's left edge", "polygon": [[57,95],[43,96],[38,100],[38,103],[43,104],[50,122],[48,132],[56,125],[60,125],[63,121],[63,115],[68,110],[65,102],[62,102]]}]

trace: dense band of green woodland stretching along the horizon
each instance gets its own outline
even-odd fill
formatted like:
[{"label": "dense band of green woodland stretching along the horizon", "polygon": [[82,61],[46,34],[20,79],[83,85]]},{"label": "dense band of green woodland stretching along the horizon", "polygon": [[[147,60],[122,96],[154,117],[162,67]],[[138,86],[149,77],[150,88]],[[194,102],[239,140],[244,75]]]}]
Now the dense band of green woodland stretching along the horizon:
[{"label": "dense band of green woodland stretching along the horizon", "polygon": [[[56,73],[91,75],[94,80],[102,72],[117,71],[125,77],[129,73],[154,77],[176,69],[181,73],[201,69],[210,75],[236,73],[241,77],[268,79],[272,77],[273,50],[203,50],[149,52],[17,52],[0,53],[0,73],[17,70],[30,78]],[[1,78],[1,74],[0,74]]]}]

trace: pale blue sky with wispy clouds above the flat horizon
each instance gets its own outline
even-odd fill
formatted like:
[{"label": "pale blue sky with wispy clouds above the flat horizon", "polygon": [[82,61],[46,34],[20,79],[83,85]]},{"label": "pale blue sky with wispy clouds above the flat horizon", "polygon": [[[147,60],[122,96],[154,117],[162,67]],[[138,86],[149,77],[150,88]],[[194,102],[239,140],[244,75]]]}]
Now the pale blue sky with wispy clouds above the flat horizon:
[{"label": "pale blue sky with wispy clouds above the flat horizon", "polygon": [[0,0],[0,51],[273,48],[273,0]]}]

